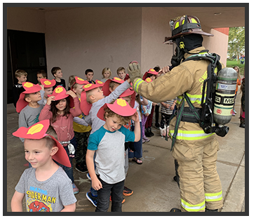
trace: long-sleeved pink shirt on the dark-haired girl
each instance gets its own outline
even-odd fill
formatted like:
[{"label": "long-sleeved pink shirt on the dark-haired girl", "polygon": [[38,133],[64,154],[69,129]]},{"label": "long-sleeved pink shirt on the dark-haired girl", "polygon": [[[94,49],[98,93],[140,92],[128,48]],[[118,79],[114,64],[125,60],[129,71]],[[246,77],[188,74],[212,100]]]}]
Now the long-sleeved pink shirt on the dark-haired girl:
[{"label": "long-sleeved pink shirt on the dark-haired girl", "polygon": [[74,137],[73,119],[81,115],[80,102],[78,97],[74,97],[74,108],[70,109],[70,114],[66,116],[58,116],[57,120],[52,123],[53,113],[50,112],[50,105],[46,104],[41,110],[39,121],[50,119],[50,126],[53,126],[58,135],[59,142],[72,140]]}]

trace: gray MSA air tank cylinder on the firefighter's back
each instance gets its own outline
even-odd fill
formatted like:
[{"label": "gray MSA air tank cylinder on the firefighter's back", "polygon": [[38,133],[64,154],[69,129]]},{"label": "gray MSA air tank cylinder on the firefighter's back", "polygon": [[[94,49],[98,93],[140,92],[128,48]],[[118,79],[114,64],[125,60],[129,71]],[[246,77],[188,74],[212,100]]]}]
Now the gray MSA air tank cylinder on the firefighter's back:
[{"label": "gray MSA air tank cylinder on the firefighter's back", "polygon": [[213,118],[219,126],[231,121],[237,79],[237,72],[231,67],[221,69],[217,76]]}]

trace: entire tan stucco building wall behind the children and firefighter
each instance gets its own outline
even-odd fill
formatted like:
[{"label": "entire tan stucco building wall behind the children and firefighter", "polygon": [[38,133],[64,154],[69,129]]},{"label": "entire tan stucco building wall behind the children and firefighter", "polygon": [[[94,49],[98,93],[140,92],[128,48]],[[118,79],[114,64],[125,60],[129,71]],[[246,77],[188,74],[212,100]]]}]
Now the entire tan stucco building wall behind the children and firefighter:
[{"label": "entire tan stucco building wall behind the children and firefighter", "polygon": [[[81,76],[87,68],[101,79],[102,69],[109,67],[116,76],[118,67],[127,67],[131,60],[142,65],[142,74],[149,68],[170,65],[173,46],[163,44],[170,36],[170,11],[161,7],[144,8],[74,8],[64,11],[33,11],[11,7],[7,28],[46,34],[46,60],[50,69],[62,68],[66,83],[70,75]],[[203,46],[218,53],[226,65],[228,36],[203,26],[215,34],[204,37]],[[52,76],[53,77],[53,76]]]}]

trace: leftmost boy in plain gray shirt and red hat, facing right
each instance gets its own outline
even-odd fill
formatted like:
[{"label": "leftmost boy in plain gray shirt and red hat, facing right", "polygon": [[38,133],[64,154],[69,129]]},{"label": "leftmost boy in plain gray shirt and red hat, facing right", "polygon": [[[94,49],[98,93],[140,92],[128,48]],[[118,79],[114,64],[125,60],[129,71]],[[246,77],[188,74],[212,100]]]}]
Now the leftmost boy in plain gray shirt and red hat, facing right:
[{"label": "leftmost boy in plain gray shirt and red hat, facing right", "polygon": [[[38,103],[41,100],[41,87],[39,84],[35,85],[30,82],[23,82],[22,86],[25,88],[25,91],[20,94],[16,104],[16,111],[20,113],[19,128],[28,128],[39,121],[39,114],[43,109],[43,104]],[[23,138],[20,138],[20,140],[24,142]]]}]

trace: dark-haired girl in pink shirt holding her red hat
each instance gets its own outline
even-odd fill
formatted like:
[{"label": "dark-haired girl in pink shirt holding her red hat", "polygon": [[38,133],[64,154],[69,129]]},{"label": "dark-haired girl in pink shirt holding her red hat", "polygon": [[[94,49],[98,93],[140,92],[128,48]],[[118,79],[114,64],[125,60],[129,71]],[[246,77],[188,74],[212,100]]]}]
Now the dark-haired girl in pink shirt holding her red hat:
[{"label": "dark-haired girl in pink shirt holding her red hat", "polygon": [[[73,109],[73,107],[75,107]],[[74,194],[79,193],[79,189],[74,184],[72,159],[76,148],[76,138],[74,137],[73,119],[81,114],[79,99],[72,90],[66,91],[62,86],[57,86],[53,95],[49,95],[46,105],[39,116],[39,121],[50,119],[50,126],[53,126],[58,135],[60,144],[66,150],[71,167],[63,166],[67,176],[72,180]]]}]

